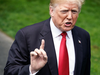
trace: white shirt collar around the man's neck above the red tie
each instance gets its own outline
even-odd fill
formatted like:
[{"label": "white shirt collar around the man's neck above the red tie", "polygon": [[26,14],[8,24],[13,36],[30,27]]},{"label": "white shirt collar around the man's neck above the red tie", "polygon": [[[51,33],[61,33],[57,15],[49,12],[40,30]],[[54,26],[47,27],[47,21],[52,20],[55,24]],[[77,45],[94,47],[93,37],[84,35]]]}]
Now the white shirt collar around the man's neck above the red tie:
[{"label": "white shirt collar around the man's neck above the red tie", "polygon": [[[59,30],[53,23],[52,21],[52,18],[50,19],[50,27],[51,27],[51,32],[52,32],[52,35],[54,38],[60,36],[60,34],[62,33],[61,30]],[[71,30],[70,31],[67,31],[67,37],[70,38],[72,36],[72,32]]]}]

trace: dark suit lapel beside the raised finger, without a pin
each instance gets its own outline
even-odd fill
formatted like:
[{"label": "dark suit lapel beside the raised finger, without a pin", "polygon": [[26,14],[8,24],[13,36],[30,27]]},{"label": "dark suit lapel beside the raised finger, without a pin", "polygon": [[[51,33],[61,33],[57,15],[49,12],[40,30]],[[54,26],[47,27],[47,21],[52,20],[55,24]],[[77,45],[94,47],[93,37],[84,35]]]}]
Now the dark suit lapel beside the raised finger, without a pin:
[{"label": "dark suit lapel beside the raised finger, without a pin", "polygon": [[40,33],[40,41],[41,39],[45,40],[45,48],[44,50],[48,56],[48,65],[52,75],[58,75],[58,68],[57,68],[57,59],[55,53],[55,47],[53,43],[53,38],[50,30],[50,20],[47,20],[44,23],[44,27]]}]

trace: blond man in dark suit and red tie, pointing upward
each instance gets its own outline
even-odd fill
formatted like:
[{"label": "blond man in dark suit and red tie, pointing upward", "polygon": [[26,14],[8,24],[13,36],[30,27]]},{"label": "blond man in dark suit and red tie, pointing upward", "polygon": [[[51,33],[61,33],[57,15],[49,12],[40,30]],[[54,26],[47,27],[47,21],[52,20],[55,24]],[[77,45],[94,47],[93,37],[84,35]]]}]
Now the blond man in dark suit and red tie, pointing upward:
[{"label": "blond man in dark suit and red tie, pointing upward", "polygon": [[[51,18],[16,34],[4,75],[90,75],[90,36],[75,26],[83,2],[51,0]],[[67,53],[63,58],[62,46]]]}]

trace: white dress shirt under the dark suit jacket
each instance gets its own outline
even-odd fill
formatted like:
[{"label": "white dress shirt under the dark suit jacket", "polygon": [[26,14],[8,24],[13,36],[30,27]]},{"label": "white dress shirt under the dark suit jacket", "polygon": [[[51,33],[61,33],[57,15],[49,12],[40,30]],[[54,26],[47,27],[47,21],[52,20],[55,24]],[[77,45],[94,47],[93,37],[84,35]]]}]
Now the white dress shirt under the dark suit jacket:
[{"label": "white dress shirt under the dark suit jacket", "polygon": [[[62,39],[62,36],[60,35],[62,32],[54,25],[52,19],[50,20],[50,28],[53,36],[53,41],[54,41],[54,47],[55,47],[55,52],[57,56],[57,64],[59,64],[59,49],[60,49],[60,42]],[[75,50],[74,50],[74,43],[73,43],[73,37],[72,37],[72,32],[67,31],[67,36],[66,36],[66,45],[67,45],[67,50],[68,50],[68,55],[69,55],[69,73],[70,75],[74,75],[74,68],[75,68]],[[36,72],[37,73],[37,72]],[[35,75],[36,73],[32,74],[30,71],[30,75]]]}]

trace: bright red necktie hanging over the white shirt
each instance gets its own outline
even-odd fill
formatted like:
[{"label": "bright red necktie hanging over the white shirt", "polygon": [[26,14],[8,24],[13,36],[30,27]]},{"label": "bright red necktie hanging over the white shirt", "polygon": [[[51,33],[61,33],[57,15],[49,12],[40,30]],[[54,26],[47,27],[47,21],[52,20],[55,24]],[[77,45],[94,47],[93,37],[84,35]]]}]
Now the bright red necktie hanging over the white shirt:
[{"label": "bright red necktie hanging over the white shirt", "polygon": [[62,34],[62,40],[60,43],[60,52],[59,52],[59,67],[58,72],[59,75],[69,75],[69,58],[66,47],[66,32]]}]

